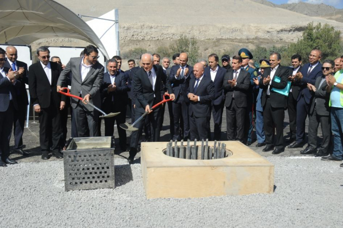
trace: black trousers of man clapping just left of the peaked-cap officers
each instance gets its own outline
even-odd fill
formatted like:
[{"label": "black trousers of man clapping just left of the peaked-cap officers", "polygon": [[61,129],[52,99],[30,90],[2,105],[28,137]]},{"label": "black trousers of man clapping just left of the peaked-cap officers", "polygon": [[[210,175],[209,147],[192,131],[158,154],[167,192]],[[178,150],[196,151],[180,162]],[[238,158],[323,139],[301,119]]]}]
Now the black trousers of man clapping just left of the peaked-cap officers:
[{"label": "black trousers of man clapping just left of the peaked-cap officers", "polygon": [[244,141],[246,107],[239,108],[232,99],[229,107],[226,107],[226,131],[227,140]]}]

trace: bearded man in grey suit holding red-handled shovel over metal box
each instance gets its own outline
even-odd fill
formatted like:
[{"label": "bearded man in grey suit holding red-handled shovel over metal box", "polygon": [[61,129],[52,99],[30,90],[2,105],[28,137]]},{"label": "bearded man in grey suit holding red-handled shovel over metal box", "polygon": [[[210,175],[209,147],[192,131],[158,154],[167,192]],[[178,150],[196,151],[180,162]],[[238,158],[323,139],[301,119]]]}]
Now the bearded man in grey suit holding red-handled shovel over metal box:
[{"label": "bearded man in grey suit holding red-handled shovel over metal box", "polygon": [[[89,45],[84,49],[84,56],[71,58],[67,66],[61,72],[57,82],[57,91],[67,85],[68,75],[72,72],[71,93],[83,97],[82,102],[79,99],[72,98],[71,106],[75,116],[77,137],[97,137],[99,113],[90,105],[83,101],[101,106],[100,86],[103,80],[104,67],[98,62],[98,49]],[[87,135],[87,126],[89,135]],[[73,130],[72,130],[73,131]]]}]

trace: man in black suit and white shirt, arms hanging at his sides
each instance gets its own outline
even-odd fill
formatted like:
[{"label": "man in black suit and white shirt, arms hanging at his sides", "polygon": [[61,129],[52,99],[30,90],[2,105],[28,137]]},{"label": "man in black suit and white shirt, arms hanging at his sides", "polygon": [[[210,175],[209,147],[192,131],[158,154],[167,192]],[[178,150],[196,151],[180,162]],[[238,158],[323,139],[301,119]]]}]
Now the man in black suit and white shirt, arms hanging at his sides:
[{"label": "man in black suit and white shirt, arms hanging at his sides", "polygon": [[[39,113],[39,141],[42,159],[49,159],[49,150],[56,158],[63,158],[60,150],[64,146],[60,110],[66,105],[66,96],[57,92],[57,80],[61,65],[50,62],[50,51],[46,46],[38,47],[40,60],[28,70],[28,88],[34,111]],[[62,97],[61,97],[62,96]],[[50,145],[52,142],[52,145]]]}]

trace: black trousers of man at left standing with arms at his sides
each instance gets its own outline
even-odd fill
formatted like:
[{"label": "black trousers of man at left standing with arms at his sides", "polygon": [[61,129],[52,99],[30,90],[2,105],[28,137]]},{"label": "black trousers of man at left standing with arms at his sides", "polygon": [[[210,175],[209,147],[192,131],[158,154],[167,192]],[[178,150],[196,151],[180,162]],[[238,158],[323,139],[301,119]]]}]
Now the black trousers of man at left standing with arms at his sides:
[{"label": "black trousers of man at left standing with arms at his sides", "polygon": [[[61,116],[53,100],[48,108],[41,108],[39,113],[39,142],[43,152],[58,152],[65,144],[61,128]],[[50,143],[52,145],[50,145]]]}]

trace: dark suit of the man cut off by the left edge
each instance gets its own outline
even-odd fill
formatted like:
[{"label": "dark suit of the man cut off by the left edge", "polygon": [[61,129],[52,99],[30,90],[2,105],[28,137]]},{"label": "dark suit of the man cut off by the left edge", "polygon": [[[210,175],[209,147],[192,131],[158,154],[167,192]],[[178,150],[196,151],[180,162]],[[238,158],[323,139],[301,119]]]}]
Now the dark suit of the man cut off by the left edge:
[{"label": "dark suit of the man cut off by the left edge", "polygon": [[[5,74],[9,68],[3,68]],[[11,138],[13,115],[18,112],[17,90],[21,88],[21,81],[15,84],[0,73],[0,157],[5,161],[9,156],[9,140]],[[10,93],[12,100],[10,100]]]}]

